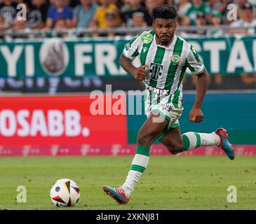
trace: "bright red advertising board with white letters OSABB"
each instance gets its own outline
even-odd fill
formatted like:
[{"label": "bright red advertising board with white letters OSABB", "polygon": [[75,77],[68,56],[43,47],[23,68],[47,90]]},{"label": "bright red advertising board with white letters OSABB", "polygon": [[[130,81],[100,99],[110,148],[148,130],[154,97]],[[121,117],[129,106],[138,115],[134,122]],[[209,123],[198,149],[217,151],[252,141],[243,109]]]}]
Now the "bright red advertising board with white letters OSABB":
[{"label": "bright red advertising board with white letters OSABB", "polygon": [[92,105],[88,95],[1,97],[0,146],[127,144],[126,115],[94,115]]}]

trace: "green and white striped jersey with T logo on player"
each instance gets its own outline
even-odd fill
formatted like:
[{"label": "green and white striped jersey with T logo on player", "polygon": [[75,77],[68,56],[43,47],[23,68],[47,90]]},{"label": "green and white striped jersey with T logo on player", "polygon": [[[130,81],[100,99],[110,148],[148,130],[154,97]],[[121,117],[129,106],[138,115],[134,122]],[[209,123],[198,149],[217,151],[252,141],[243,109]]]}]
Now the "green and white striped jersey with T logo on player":
[{"label": "green and white striped jersey with T logo on player", "polygon": [[132,61],[140,57],[140,63],[148,65],[144,87],[154,92],[167,90],[168,103],[175,107],[182,102],[182,78],[186,69],[194,75],[204,69],[198,52],[190,43],[175,35],[168,47],[158,45],[153,30],[135,36],[126,44],[123,55]]}]

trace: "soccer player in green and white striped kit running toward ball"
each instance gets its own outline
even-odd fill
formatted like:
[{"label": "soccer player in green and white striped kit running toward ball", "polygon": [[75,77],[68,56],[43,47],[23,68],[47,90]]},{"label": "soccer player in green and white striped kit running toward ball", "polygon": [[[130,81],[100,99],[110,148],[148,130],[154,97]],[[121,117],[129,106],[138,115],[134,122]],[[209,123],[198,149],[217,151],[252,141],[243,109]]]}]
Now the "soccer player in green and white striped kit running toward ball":
[{"label": "soccer player in green and white striped kit running toward ball", "polygon": [[[227,131],[217,129],[210,134],[187,132],[180,134],[178,118],[182,114],[182,78],[187,68],[198,77],[196,100],[189,120],[203,120],[201,106],[208,86],[208,72],[194,47],[175,35],[177,10],[161,5],[152,9],[153,29],[138,34],[126,45],[120,64],[144,85],[144,109],[147,120],[137,134],[137,148],[125,183],[119,188],[103,186],[107,195],[119,204],[129,202],[130,193],[139,181],[149,162],[150,146],[156,139],[170,153],[182,153],[199,146],[218,146],[230,160],[234,148],[227,139]],[[140,57],[141,66],[133,66]]]}]

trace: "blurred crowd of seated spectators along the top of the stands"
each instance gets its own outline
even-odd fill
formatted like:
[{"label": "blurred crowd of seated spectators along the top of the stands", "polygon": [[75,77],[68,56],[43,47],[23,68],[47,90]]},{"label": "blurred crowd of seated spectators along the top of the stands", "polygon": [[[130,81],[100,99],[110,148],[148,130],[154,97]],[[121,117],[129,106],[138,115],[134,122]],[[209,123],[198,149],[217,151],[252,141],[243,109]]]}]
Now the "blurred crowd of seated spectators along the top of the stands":
[{"label": "blurred crowd of seated spectators along the top of the stands", "polygon": [[[26,6],[26,20],[18,18],[20,9],[17,6],[20,3]],[[218,28],[220,25],[228,25],[229,32],[255,33],[256,0],[0,0],[0,32],[90,28],[91,36],[98,36],[99,29],[115,27],[144,29],[152,25],[151,9],[163,3],[177,7],[178,25],[216,27],[210,30],[198,29],[190,31],[191,33],[222,34],[224,31]],[[227,7],[231,3],[236,7],[231,9]],[[24,18],[24,15],[22,16]],[[244,29],[248,27],[251,29]]]}]

